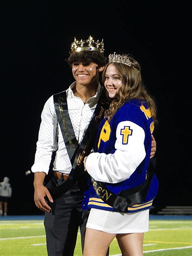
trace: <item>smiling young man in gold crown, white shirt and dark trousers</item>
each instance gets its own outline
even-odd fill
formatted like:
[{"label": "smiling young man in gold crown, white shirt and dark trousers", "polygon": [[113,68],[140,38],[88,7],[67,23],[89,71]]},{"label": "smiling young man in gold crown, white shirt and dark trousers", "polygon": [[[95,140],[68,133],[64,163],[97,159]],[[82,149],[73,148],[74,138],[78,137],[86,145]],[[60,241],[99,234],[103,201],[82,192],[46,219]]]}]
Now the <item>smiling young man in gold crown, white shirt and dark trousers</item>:
[{"label": "smiling young man in gold crown, white shirt and dark trousers", "polygon": [[[45,232],[49,256],[72,256],[81,231],[82,250],[88,212],[82,210],[88,175],[83,159],[94,145],[98,124],[107,108],[99,82],[107,58],[103,41],[90,36],[71,44],[68,64],[75,82],[52,95],[43,108],[34,165],[34,202],[45,211]],[[53,177],[44,186],[52,153]],[[156,142],[151,150],[154,155]]]}]

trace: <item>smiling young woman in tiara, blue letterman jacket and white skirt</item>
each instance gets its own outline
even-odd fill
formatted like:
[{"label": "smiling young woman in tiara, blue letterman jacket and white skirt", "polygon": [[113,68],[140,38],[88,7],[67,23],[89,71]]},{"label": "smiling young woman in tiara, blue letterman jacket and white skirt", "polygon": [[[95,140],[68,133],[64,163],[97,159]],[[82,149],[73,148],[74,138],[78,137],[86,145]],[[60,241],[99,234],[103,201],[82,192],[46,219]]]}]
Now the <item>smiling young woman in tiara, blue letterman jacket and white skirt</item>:
[{"label": "smiling young woman in tiara, blue letterman jacket and white skirt", "polygon": [[142,256],[149,208],[158,191],[156,175],[150,180],[148,171],[156,104],[131,56],[110,54],[103,82],[111,104],[95,152],[84,159],[92,182],[83,202],[91,209],[83,256],[105,256],[115,236],[123,256]]}]

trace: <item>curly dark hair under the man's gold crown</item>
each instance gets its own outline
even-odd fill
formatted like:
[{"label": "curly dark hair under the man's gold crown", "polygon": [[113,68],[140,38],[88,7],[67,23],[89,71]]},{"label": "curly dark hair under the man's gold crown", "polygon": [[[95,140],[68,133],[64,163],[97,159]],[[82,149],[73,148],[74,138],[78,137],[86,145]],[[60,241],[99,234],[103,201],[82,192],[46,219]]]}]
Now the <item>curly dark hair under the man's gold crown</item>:
[{"label": "curly dark hair under the man's gold crown", "polygon": [[96,63],[98,67],[105,66],[108,63],[107,57],[102,52],[97,51],[72,52],[66,61],[70,67],[72,67],[74,62],[82,63],[83,65]]}]

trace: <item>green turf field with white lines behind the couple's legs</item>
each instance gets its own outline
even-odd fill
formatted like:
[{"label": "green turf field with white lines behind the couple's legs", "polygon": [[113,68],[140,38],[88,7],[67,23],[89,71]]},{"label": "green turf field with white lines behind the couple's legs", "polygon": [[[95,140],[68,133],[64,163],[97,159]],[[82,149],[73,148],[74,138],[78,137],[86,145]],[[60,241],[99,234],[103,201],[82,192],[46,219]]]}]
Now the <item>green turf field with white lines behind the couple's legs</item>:
[{"label": "green turf field with white lines behind the couple's legs", "polygon": [[[149,219],[143,252],[149,256],[192,256],[192,221]],[[0,219],[0,255],[47,256],[43,220]],[[80,234],[74,255],[82,256]],[[110,245],[112,255],[121,255],[115,239]]]}]

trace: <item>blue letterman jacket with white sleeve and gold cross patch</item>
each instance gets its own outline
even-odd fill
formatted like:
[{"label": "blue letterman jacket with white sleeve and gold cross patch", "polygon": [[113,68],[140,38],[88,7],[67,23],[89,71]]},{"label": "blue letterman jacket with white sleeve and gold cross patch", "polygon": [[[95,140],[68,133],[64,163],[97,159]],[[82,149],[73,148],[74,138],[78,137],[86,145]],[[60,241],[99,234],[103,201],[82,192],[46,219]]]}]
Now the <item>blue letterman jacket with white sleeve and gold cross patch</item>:
[{"label": "blue letterman jacket with white sleeve and gold cross patch", "polygon": [[[151,134],[154,122],[145,102],[130,100],[112,117],[103,119],[98,128],[95,152],[86,159],[86,169],[96,181],[117,195],[119,192],[141,185],[146,180],[151,153]],[[89,188],[83,195],[83,210],[97,208],[119,211],[104,202],[96,193],[91,177]],[[129,206],[128,213],[151,208],[158,191],[154,175],[143,202]],[[109,197],[109,195],[106,195]]]}]

